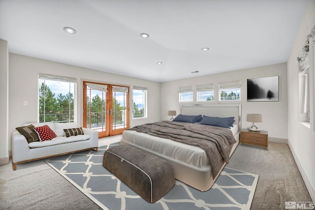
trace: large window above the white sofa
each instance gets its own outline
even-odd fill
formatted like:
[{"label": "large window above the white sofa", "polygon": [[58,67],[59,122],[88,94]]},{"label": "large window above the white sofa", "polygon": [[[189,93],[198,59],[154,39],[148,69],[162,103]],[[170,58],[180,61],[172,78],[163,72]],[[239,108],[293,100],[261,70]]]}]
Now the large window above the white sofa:
[{"label": "large window above the white sofa", "polygon": [[73,122],[76,79],[38,74],[38,122]]}]

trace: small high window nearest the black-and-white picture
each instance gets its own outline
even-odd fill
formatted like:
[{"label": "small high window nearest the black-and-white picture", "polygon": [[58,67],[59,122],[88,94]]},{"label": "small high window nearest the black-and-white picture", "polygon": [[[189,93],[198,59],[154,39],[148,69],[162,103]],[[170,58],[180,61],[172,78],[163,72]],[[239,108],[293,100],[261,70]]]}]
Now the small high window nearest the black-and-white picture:
[{"label": "small high window nearest the black-and-white picture", "polygon": [[219,83],[220,101],[241,100],[241,81]]}]

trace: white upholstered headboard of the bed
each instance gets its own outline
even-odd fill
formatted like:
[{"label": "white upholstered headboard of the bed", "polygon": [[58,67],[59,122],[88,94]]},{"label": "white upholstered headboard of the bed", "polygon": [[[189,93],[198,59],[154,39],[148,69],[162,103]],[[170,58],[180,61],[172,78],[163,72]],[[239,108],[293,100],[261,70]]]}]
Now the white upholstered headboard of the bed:
[{"label": "white upholstered headboard of the bed", "polygon": [[239,130],[242,128],[241,104],[181,104],[180,114],[182,115],[206,115],[210,117],[234,117],[238,122]]}]

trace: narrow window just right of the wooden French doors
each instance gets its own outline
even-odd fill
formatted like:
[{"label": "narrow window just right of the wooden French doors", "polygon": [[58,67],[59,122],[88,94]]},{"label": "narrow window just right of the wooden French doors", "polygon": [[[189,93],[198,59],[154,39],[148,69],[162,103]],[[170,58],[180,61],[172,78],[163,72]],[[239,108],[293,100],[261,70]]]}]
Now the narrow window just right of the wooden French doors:
[{"label": "narrow window just right of the wooden French doors", "polygon": [[147,88],[132,87],[132,118],[147,117]]}]

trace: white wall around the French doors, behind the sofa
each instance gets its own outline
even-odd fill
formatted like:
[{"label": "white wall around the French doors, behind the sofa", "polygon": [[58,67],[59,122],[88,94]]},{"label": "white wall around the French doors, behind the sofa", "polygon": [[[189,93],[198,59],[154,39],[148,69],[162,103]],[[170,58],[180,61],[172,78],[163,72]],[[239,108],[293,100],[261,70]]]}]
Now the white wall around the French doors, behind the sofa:
[{"label": "white wall around the French doors, behind the sofa", "polygon": [[[8,43],[10,44],[10,43]],[[38,111],[38,73],[74,77],[77,79],[77,121],[82,123],[83,80],[129,86],[130,107],[132,107],[132,86],[148,88],[148,118],[132,120],[130,127],[160,120],[160,83],[110,74],[93,69],[67,65],[63,63],[41,60],[32,57],[9,54],[9,139],[8,150],[11,150],[11,133],[15,127],[23,123],[37,122]],[[23,106],[28,101],[28,106]]]}]

